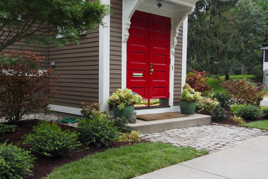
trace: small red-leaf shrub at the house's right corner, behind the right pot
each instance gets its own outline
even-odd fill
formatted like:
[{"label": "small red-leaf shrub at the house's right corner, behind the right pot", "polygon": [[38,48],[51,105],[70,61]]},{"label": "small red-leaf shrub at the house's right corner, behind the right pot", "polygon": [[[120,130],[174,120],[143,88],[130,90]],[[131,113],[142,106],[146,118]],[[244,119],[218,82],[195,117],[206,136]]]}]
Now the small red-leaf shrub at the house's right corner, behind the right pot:
[{"label": "small red-leaf shrub at the house's right corner, behind the right pot", "polygon": [[203,72],[197,72],[196,70],[193,70],[194,73],[189,73],[186,76],[186,83],[190,85],[196,92],[205,92],[210,89],[210,86],[208,86],[208,83],[205,81],[208,81],[208,78],[205,78],[205,71]]}]

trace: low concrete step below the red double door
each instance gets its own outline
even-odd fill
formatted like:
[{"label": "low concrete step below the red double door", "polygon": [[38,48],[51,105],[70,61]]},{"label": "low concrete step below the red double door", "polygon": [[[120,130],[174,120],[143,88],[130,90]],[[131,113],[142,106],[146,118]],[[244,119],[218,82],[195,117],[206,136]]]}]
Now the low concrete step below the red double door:
[{"label": "low concrete step below the red double door", "polygon": [[137,120],[137,123],[129,123],[128,125],[132,127],[133,130],[146,134],[152,132],[166,131],[169,129],[180,129],[199,125],[209,125],[210,123],[211,116],[203,114],[192,114],[182,118],[169,118],[152,121]]}]

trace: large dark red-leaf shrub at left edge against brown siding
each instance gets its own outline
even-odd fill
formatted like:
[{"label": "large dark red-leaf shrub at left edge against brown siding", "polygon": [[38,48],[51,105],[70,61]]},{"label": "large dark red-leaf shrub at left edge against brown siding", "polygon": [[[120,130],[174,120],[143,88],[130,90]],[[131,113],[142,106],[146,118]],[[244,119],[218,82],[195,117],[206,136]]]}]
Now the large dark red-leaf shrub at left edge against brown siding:
[{"label": "large dark red-leaf shrub at left edge against brown siding", "polygon": [[45,59],[30,52],[1,52],[0,54],[0,116],[17,123],[23,114],[47,109],[48,94],[55,93],[49,84],[53,70],[39,71],[38,63]]}]

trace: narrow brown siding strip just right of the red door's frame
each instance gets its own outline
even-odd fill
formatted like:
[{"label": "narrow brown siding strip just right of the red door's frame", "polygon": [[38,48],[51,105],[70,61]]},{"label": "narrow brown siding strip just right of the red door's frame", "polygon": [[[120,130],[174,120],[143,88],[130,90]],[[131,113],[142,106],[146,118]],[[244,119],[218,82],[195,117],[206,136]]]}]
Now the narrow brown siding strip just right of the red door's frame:
[{"label": "narrow brown siding strip just right of the red door's frame", "polygon": [[179,28],[179,36],[177,37],[177,45],[175,48],[175,72],[174,72],[174,103],[179,105],[179,98],[181,97],[181,57],[182,57],[182,27]]}]

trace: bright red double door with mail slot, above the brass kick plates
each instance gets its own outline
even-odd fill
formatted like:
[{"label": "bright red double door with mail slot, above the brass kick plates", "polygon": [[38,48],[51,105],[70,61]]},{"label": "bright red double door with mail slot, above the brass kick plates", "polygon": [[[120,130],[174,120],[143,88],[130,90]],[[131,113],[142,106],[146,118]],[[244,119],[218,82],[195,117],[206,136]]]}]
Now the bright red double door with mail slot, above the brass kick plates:
[{"label": "bright red double door with mail slot, above the brass kick plates", "polygon": [[136,11],[127,42],[126,87],[142,98],[169,98],[170,18]]}]

